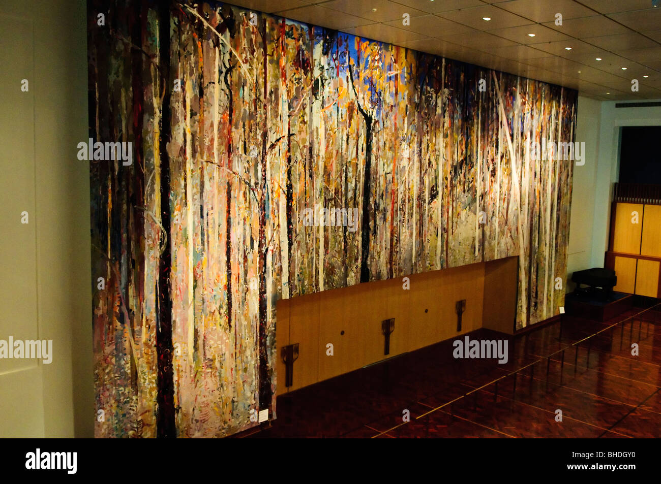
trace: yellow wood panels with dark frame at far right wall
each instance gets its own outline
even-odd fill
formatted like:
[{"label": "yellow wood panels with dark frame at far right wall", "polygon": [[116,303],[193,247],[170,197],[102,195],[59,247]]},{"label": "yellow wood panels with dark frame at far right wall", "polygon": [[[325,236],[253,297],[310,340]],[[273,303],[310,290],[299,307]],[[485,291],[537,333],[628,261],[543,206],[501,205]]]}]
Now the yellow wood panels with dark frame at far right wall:
[{"label": "yellow wood panels with dark frame at far right wall", "polygon": [[605,267],[621,293],[661,297],[661,205],[614,202]]}]

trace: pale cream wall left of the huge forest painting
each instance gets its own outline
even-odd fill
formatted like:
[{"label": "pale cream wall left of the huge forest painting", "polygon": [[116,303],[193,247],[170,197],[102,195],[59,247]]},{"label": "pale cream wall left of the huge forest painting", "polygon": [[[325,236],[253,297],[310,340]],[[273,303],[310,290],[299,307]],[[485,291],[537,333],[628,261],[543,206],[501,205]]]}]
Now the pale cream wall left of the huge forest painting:
[{"label": "pale cream wall left of the huge forest painting", "polygon": [[0,3],[0,339],[53,342],[50,364],[0,359],[0,437],[93,436],[86,17]]}]

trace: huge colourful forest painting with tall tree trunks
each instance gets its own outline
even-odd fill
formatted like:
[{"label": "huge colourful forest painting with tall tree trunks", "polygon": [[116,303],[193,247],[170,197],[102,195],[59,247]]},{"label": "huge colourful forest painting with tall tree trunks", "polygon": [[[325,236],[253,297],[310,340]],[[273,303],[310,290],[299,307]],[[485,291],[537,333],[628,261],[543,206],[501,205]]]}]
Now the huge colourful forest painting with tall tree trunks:
[{"label": "huge colourful forest painting with tall tree trunks", "polygon": [[527,147],[575,91],[225,3],[88,17],[89,137],[132,143],[90,161],[97,436],[275,417],[279,298],[519,256],[518,328],[563,305],[572,161]]}]

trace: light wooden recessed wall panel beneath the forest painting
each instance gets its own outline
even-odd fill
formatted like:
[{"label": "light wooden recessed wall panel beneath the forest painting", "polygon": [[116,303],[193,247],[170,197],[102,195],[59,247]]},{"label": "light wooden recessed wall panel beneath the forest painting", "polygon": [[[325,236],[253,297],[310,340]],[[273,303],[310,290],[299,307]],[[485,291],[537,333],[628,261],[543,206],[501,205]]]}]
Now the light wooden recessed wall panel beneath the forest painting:
[{"label": "light wooden recessed wall panel beneath the forest painting", "polygon": [[[277,392],[284,394],[479,328],[513,334],[518,257],[333,289],[276,306]],[[461,331],[455,303],[466,300]],[[395,318],[384,355],[381,322]],[[298,343],[293,385],[285,386],[282,348]],[[328,355],[332,344],[332,356]]]}]

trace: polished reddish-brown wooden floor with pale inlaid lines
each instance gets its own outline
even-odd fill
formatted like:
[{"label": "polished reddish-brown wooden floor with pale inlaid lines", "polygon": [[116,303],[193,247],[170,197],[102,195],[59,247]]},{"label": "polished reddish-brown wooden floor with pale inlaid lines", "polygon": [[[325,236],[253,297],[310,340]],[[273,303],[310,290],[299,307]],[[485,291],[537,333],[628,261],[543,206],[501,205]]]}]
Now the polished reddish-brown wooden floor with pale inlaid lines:
[{"label": "polished reddish-brown wooden floor with pale inlaid lines", "polygon": [[506,364],[444,341],[278,397],[276,420],[237,436],[661,437],[661,304],[563,318],[510,339]]}]

